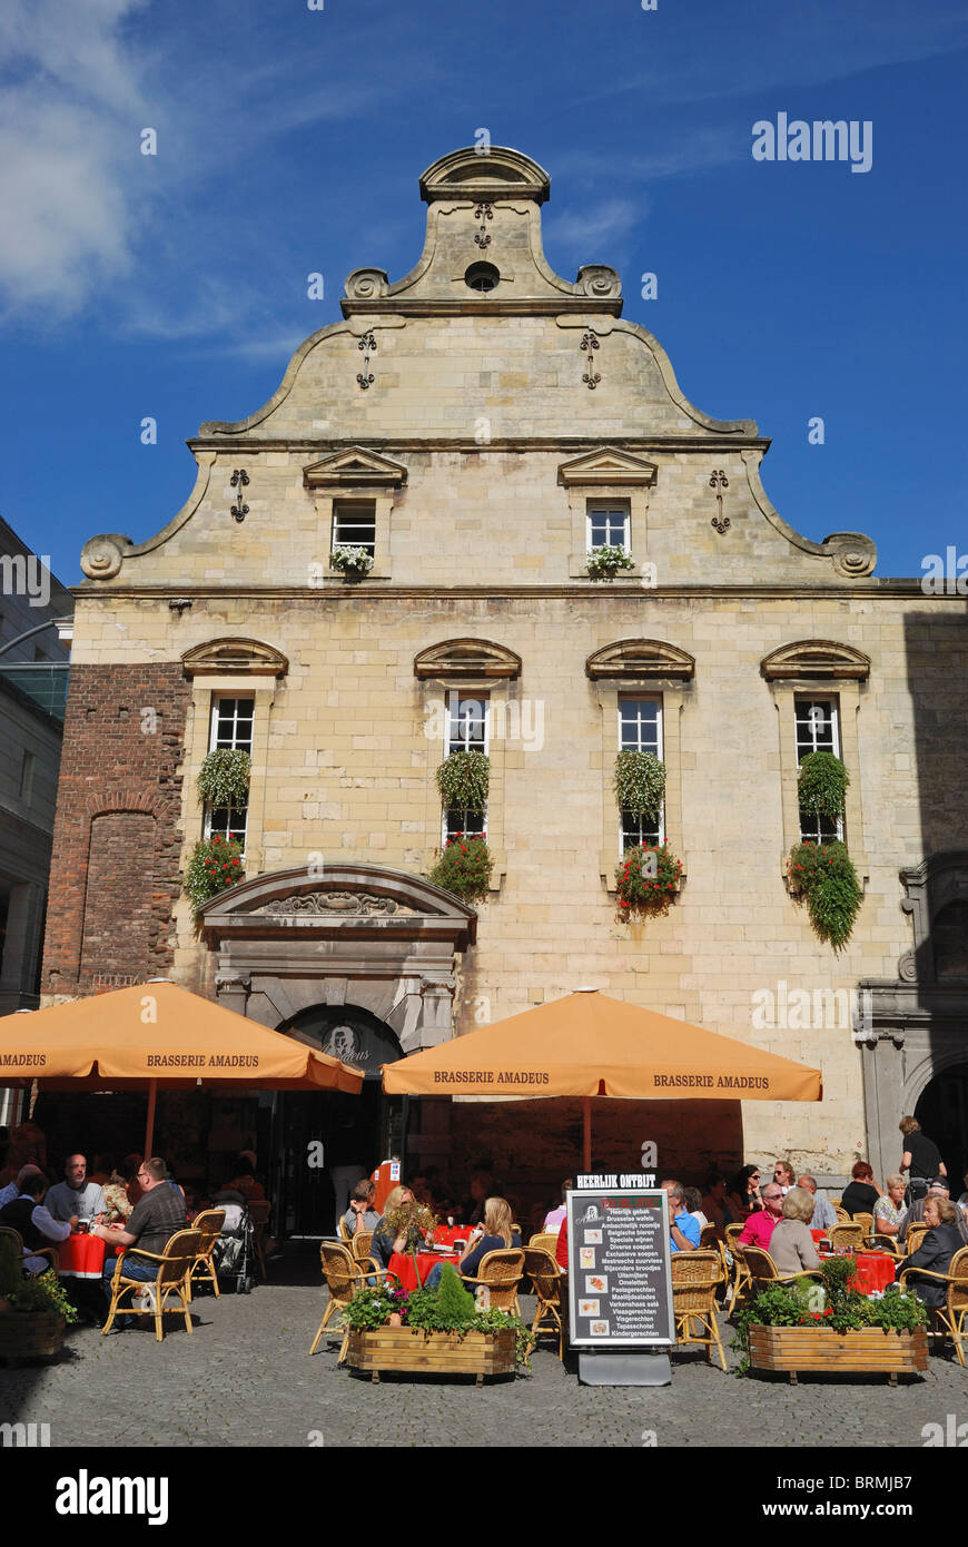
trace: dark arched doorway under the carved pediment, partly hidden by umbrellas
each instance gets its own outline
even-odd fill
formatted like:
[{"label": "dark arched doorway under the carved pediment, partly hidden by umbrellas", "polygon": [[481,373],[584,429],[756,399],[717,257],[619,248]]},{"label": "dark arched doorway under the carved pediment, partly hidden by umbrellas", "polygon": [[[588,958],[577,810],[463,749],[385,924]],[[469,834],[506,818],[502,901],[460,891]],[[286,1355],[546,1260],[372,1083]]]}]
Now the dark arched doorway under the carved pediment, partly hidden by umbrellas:
[{"label": "dark arched doorway under the carved pediment, partly hidden by umbrellas", "polygon": [[354,1004],[309,1006],[278,1030],[365,1074],[360,1095],[286,1091],[274,1103],[278,1227],[295,1239],[329,1236],[353,1183],[402,1153],[404,1100],[385,1095],[380,1081],[380,1064],[402,1049],[385,1021]]}]

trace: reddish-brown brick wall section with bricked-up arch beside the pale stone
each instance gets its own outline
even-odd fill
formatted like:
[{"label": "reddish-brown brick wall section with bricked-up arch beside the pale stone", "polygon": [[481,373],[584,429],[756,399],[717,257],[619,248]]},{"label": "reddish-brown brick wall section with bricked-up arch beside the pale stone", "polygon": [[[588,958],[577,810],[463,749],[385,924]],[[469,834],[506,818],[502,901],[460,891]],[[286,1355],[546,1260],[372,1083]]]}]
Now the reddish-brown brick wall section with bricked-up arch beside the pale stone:
[{"label": "reddish-brown brick wall section with bricked-up arch beside the pale stone", "polygon": [[178,664],[71,667],[43,993],[96,993],[172,967],[189,698]]}]

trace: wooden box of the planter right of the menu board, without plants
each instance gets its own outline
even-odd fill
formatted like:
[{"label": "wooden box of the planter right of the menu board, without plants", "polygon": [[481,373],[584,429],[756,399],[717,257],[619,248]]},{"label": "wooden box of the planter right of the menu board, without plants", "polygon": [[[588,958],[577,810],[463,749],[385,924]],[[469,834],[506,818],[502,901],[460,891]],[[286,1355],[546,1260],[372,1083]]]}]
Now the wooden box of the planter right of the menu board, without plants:
[{"label": "wooden box of the planter right of the menu board, without plants", "polygon": [[824,1375],[880,1374],[897,1386],[898,1375],[917,1375],[928,1369],[928,1334],[881,1332],[861,1327],[858,1332],[833,1332],[826,1327],[750,1327],[750,1363],[755,1369],[779,1369],[796,1385],[799,1371]]}]

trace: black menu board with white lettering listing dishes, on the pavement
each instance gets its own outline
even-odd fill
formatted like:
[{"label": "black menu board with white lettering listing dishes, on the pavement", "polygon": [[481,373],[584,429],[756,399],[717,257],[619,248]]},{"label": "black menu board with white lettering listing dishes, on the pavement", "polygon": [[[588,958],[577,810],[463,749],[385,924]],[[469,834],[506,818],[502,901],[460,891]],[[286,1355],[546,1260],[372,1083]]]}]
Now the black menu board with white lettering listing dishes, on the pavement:
[{"label": "black menu board with white lettering listing dishes, on the pavement", "polygon": [[571,1341],[578,1347],[676,1341],[665,1193],[568,1193]]}]

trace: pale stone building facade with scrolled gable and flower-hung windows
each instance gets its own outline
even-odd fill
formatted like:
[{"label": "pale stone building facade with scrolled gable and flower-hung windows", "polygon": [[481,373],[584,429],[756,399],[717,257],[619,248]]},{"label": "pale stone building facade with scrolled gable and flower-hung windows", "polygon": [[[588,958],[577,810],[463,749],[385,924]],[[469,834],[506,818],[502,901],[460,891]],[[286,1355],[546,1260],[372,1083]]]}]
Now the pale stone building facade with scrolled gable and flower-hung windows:
[{"label": "pale stone building facade with scrolled gable and flower-hung windows", "polygon": [[[269,402],[189,442],[178,515],[84,549],[45,992],[162,972],[323,1046],[349,1027],[376,1063],[595,984],[824,1080],[816,1106],[603,1101],[602,1163],[654,1139],[693,1174],[776,1154],[843,1174],[860,1151],[891,1170],[942,1069],[965,1123],[965,600],[778,515],[769,441],[683,398],[619,275],[549,269],[527,156],[455,152],[421,195],[411,272],[351,274]],[[608,582],[588,574],[603,540],[632,563]],[[331,565],[346,541],[373,555],[363,579]],[[461,735],[492,764],[476,908],[422,879]],[[850,778],[864,897],[841,953],[786,880],[810,735]],[[246,880],[196,931],[178,873],[212,820],[195,780],[215,744],[252,753]],[[665,761],[685,866],[642,922],[615,908],[623,746]],[[823,1013],[789,1015],[795,990]],[[410,1148],[550,1179],[575,1122],[424,1101]]]}]

